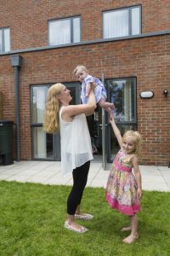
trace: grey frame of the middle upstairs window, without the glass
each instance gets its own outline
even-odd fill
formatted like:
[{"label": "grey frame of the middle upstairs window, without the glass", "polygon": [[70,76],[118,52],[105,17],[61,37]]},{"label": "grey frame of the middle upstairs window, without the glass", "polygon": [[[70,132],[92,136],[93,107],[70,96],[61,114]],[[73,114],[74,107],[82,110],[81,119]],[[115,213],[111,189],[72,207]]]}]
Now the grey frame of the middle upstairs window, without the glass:
[{"label": "grey frame of the middle upstairs window, without the glass", "polygon": [[[74,38],[74,26],[73,26],[73,21],[74,19],[80,19],[80,41],[79,42],[73,42],[73,38]],[[70,36],[70,43],[66,43],[66,44],[76,44],[76,43],[81,43],[82,42],[82,16],[81,15],[76,15],[76,16],[71,16],[71,17],[65,17],[65,18],[59,18],[59,19],[53,19],[53,20],[48,20],[48,46],[58,46],[58,45],[65,45],[65,44],[49,44],[49,30],[50,30],[50,24],[52,22],[56,22],[56,21],[61,21],[61,20],[70,20],[70,32],[71,32],[71,36]]]}]

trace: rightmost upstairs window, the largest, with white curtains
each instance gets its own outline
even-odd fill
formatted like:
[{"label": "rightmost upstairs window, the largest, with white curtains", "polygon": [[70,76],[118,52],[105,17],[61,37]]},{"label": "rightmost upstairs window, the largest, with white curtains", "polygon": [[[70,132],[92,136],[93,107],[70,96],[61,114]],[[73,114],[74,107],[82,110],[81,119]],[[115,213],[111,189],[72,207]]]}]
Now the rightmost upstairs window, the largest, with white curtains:
[{"label": "rightmost upstairs window, the largest, with white curtains", "polygon": [[121,38],[141,33],[141,7],[103,13],[103,38]]}]

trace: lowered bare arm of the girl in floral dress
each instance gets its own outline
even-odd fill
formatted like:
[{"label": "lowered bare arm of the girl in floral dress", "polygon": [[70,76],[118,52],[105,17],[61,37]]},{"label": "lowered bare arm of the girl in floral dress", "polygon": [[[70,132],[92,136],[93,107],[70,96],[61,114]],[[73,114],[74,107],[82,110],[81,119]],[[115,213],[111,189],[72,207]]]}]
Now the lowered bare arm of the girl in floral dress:
[{"label": "lowered bare arm of the girl in floral dress", "polygon": [[141,173],[140,173],[140,170],[139,170],[138,159],[137,159],[136,156],[133,157],[132,164],[133,164],[134,176],[136,178],[136,182],[137,182],[137,185],[138,185],[137,195],[140,199],[141,196],[142,196],[142,178],[141,178]]}]

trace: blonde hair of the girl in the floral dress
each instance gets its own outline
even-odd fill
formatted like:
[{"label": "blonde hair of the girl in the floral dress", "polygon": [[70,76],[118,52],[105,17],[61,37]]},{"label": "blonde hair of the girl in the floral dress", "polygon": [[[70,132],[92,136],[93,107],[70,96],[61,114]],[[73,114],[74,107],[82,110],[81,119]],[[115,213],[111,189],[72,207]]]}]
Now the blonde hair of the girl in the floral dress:
[{"label": "blonde hair of the girl in the floral dress", "polygon": [[139,156],[140,153],[140,145],[142,143],[142,138],[138,131],[126,131],[122,137],[122,143],[127,139],[127,137],[132,137],[135,141],[135,148],[133,150],[133,154]]}]

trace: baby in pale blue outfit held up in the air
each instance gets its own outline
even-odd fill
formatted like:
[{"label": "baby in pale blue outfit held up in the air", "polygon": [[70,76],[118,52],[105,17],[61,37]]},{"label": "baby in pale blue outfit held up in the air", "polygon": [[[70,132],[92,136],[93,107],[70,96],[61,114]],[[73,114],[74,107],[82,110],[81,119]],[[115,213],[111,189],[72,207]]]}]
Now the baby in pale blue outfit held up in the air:
[{"label": "baby in pale blue outfit held up in the air", "polygon": [[74,74],[77,79],[82,83],[82,104],[87,104],[88,95],[91,90],[91,84],[95,84],[94,96],[96,103],[99,102],[99,106],[104,108],[110,115],[110,119],[113,116],[112,110],[115,108],[113,103],[106,102],[106,90],[104,84],[93,76],[88,74],[88,69],[84,66],[77,66],[74,70]]}]

